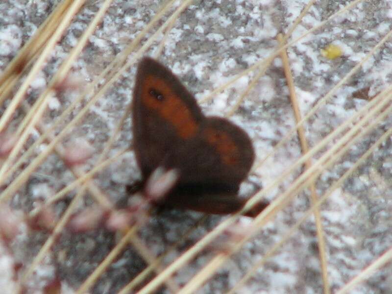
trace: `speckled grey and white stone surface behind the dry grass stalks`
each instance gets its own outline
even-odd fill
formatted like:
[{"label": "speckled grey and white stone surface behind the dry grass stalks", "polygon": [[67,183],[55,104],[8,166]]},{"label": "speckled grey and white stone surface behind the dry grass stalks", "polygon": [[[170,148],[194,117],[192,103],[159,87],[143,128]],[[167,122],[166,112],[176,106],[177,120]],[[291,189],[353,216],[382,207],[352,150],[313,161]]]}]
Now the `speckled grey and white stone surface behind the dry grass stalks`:
[{"label": "speckled grey and white stone surface behind the dry grass stalks", "polygon": [[[132,41],[157,12],[162,1],[117,0],[107,11],[90,43],[82,52],[73,73],[82,84],[91,82]],[[215,0],[194,1],[175,22],[165,43],[160,61],[177,74],[195,93],[197,99],[241,73],[256,61],[269,56],[277,46],[276,35],[286,32],[307,1],[277,0]],[[301,24],[294,30],[291,40],[310,28],[319,25],[350,1],[319,0],[312,6]],[[57,1],[4,0],[0,3],[0,70],[4,70],[18,50],[55,8]],[[45,69],[29,89],[27,101],[33,101],[46,88],[49,77],[56,72],[61,61],[76,43],[100,1],[87,1],[75,17],[61,42],[56,46]],[[289,49],[291,69],[302,114],[314,106],[366,53],[391,29],[392,2],[389,0],[363,1],[348,13],[303,38]],[[145,41],[145,40],[144,40]],[[146,54],[152,55],[155,43]],[[343,50],[340,58],[328,59],[320,50],[329,44]],[[333,98],[306,124],[310,146],[343,123],[369,100],[391,83],[391,43],[373,55],[349,82],[339,88]],[[130,102],[136,66],[123,75],[67,139],[72,142],[84,138],[95,148],[94,156],[84,169],[97,160],[104,142],[108,140],[125,106]],[[252,75],[242,77],[232,88],[201,104],[206,115],[222,115],[236,102],[249,84]],[[50,124],[61,109],[69,105],[76,92],[57,95],[49,101],[49,110],[43,123]],[[78,105],[80,109],[82,105]],[[1,109],[1,112],[3,108]],[[70,119],[76,114],[74,111]],[[20,122],[17,113],[14,123]],[[258,159],[272,150],[295,125],[293,110],[288,99],[288,88],[280,59],[275,59],[256,87],[249,93],[231,120],[241,125],[253,140]],[[110,151],[113,155],[132,140],[130,119],[125,122],[122,134]],[[371,133],[352,147],[332,169],[320,177],[317,188],[321,195],[339,178],[379,136],[391,127],[391,118],[380,123]],[[11,125],[11,126],[12,126]],[[31,142],[36,138],[33,132]],[[31,144],[29,142],[28,144]],[[332,147],[331,144],[328,147]],[[37,153],[45,145],[37,149]],[[368,161],[322,206],[322,220],[327,245],[328,273],[332,291],[340,289],[353,276],[380,256],[392,244],[392,198],[390,178],[392,141],[389,138]],[[289,168],[301,155],[296,139],[267,160],[263,168],[249,177],[251,182],[267,186]],[[297,171],[270,193],[273,199],[284,191],[298,176]],[[125,185],[139,177],[134,155],[129,151],[120,161],[101,172],[96,183],[118,201],[125,195]],[[13,198],[15,210],[29,211],[36,201],[46,199],[73,180],[73,175],[55,154],[34,172]],[[249,181],[248,181],[249,182]],[[241,191],[245,195],[249,184]],[[60,214],[71,197],[58,203]],[[92,202],[86,197],[80,206]],[[285,210],[268,223],[243,249],[235,254],[199,293],[222,293],[243,276],[260,257],[298,220],[309,207],[306,193],[299,195]],[[164,211],[152,216],[140,230],[153,254],[163,253],[173,242],[192,227],[202,214],[177,210]],[[165,259],[171,263],[181,252],[214,228],[224,217],[209,216],[201,226]],[[243,222],[248,221],[245,217]],[[0,252],[0,285],[2,293],[12,293],[15,276],[14,264],[28,265],[32,257],[48,238],[40,231],[21,228],[21,234],[12,243],[11,250],[3,246]],[[116,244],[116,236],[105,229],[86,234],[65,231],[44,264],[28,283],[29,293],[39,293],[53,276],[60,278],[64,293],[77,289],[89,273]],[[12,252],[12,253],[11,253]],[[181,286],[216,254],[204,250],[187,267],[178,271],[174,280]],[[116,293],[131,278],[146,267],[145,260],[132,247],[113,263],[98,280],[91,293]],[[322,280],[316,231],[313,218],[304,223],[294,237],[245,285],[241,293],[322,293]],[[378,270],[365,283],[351,293],[392,293],[392,270],[387,266]],[[37,291],[37,292],[34,292]],[[168,293],[166,288],[161,288]]]}]

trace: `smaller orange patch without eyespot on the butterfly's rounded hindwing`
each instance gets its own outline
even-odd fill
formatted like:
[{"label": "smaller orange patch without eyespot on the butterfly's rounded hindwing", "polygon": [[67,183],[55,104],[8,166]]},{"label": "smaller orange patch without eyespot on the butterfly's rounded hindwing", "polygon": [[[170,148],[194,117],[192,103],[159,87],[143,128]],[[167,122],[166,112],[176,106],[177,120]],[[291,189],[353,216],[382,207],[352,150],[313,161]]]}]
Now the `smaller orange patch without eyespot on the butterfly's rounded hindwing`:
[{"label": "smaller orange patch without eyespot on the butterfly's rounded hindwing", "polygon": [[213,128],[206,128],[204,136],[208,144],[214,146],[218,151],[217,153],[224,164],[229,166],[238,164],[240,152],[227,133]]}]

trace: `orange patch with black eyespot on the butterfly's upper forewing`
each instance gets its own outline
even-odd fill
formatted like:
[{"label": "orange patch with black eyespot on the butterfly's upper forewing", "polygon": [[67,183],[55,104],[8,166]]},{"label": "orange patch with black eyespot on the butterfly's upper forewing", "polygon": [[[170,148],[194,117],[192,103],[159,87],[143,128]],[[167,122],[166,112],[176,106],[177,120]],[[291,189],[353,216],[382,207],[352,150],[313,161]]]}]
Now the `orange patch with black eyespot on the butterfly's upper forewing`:
[{"label": "orange patch with black eyespot on the butterfly's upper forewing", "polygon": [[164,80],[147,75],[143,83],[142,101],[147,108],[155,110],[165,122],[171,123],[182,139],[196,135],[198,125],[191,111]]}]

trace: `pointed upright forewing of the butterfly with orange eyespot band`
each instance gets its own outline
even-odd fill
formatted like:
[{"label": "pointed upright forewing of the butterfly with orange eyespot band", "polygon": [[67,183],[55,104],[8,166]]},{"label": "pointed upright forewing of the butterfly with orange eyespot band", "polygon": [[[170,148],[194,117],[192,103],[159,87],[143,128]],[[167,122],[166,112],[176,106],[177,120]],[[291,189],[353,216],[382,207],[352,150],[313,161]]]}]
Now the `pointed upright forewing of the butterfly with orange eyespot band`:
[{"label": "pointed upright forewing of the butterfly with orange eyespot band", "polygon": [[133,94],[133,134],[138,164],[147,177],[170,150],[199,132],[203,115],[195,98],[157,61],[144,58]]}]

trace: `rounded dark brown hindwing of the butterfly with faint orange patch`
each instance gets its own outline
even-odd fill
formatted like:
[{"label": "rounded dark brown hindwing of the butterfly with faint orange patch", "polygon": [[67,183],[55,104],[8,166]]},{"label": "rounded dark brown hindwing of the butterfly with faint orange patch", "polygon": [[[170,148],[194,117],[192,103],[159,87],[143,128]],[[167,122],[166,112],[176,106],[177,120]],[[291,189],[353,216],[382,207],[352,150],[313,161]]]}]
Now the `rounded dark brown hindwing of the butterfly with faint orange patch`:
[{"label": "rounded dark brown hindwing of the butterfly with faint orange patch", "polygon": [[251,141],[241,128],[226,119],[210,117],[195,138],[169,152],[164,166],[179,170],[179,186],[222,187],[237,192],[253,159]]}]

